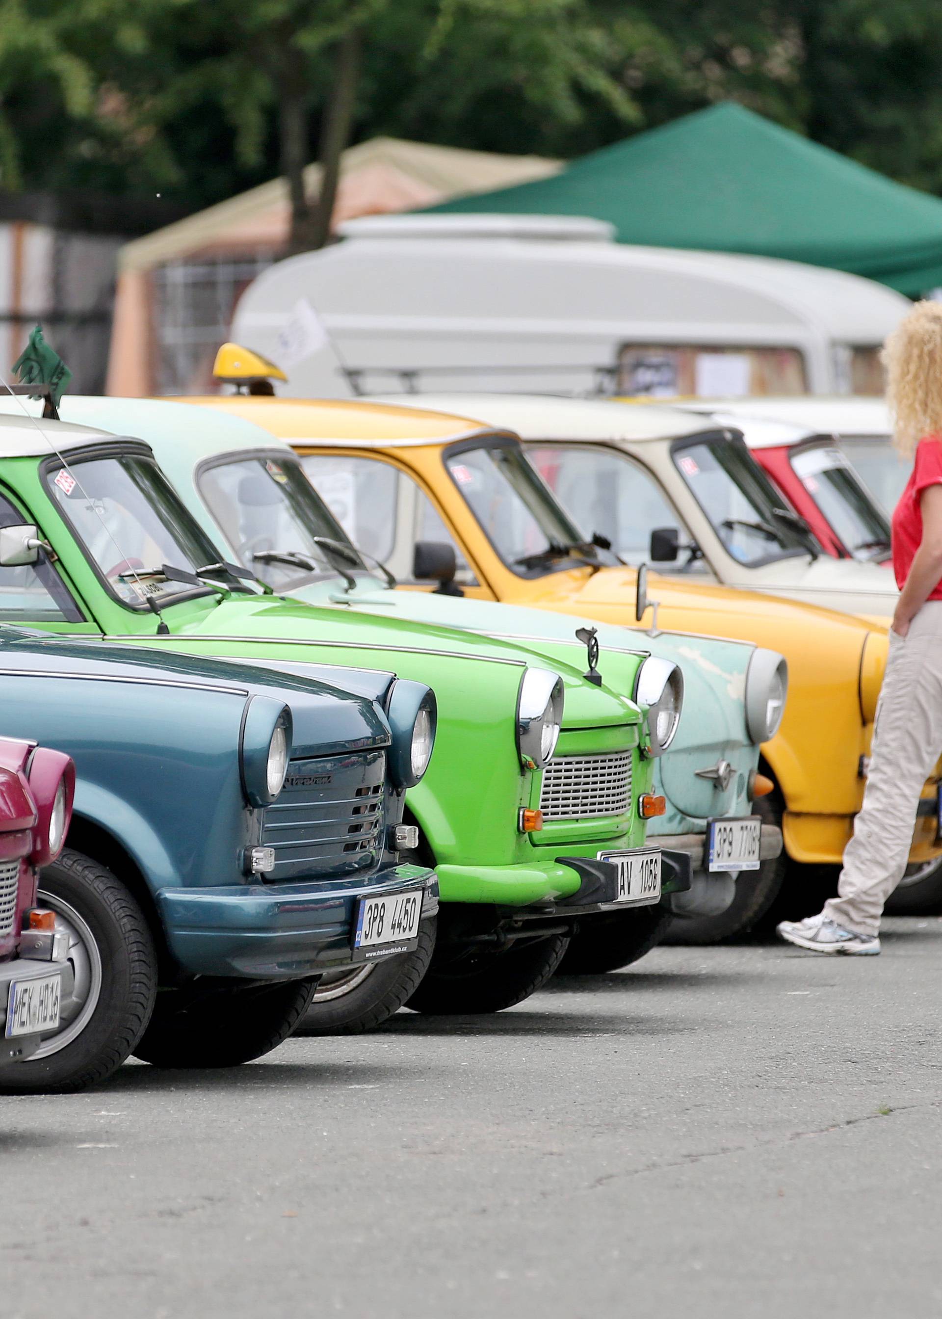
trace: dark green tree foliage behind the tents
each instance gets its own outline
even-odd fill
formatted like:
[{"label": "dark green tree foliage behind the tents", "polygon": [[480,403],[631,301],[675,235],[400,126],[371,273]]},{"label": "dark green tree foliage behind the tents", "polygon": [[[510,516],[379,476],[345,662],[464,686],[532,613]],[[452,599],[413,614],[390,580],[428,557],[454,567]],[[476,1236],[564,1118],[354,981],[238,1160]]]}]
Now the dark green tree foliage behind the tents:
[{"label": "dark green tree foliage behind the tents", "polygon": [[938,0],[0,0],[0,186],[193,206],[354,133],[574,156],[731,98],[942,194]]}]

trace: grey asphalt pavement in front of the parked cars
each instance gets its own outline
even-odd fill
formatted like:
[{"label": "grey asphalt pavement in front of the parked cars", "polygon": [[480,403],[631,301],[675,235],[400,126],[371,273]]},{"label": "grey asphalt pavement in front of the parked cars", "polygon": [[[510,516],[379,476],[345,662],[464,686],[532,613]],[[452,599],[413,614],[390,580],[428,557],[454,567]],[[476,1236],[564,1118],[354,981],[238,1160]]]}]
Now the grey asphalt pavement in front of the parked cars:
[{"label": "grey asphalt pavement in front of the parked cars", "polygon": [[941,995],[891,919],[3,1097],[0,1315],[938,1315]]}]

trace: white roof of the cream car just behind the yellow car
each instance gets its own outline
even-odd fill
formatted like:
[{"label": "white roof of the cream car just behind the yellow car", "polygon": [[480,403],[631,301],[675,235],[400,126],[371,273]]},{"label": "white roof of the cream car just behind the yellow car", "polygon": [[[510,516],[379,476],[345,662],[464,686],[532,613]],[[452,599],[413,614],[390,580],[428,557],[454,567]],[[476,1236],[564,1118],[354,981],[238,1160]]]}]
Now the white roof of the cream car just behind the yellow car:
[{"label": "white roof of the cream car just behind the yellow car", "polygon": [[[521,439],[674,439],[715,430],[710,417],[678,408],[650,408],[608,398],[554,398],[545,394],[409,394],[410,408],[458,413],[487,426],[516,431]],[[402,394],[372,402],[402,402]]]}]

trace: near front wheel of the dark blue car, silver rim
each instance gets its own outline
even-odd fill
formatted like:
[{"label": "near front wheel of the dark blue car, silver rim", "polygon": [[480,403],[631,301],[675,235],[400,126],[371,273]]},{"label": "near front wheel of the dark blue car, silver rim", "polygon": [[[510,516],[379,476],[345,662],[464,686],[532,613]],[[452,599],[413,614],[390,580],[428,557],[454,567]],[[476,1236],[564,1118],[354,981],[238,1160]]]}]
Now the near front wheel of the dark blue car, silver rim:
[{"label": "near front wheel of the dark blue car, silver rim", "polygon": [[65,1026],[29,1062],[0,1072],[5,1095],[62,1093],[106,1080],[135,1051],[157,995],[146,918],[111,871],[66,849],[42,871],[37,901],[69,934],[75,992],[62,1005]]}]

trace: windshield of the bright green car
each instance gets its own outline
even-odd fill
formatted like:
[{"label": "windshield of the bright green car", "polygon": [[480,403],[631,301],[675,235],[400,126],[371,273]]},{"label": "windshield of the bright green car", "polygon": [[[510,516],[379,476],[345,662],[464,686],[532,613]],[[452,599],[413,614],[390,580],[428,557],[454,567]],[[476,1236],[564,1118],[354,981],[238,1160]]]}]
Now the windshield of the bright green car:
[{"label": "windshield of the bright green car", "polygon": [[[69,467],[50,462],[44,471],[50,497],[123,604],[142,608],[148,596],[202,590],[162,575],[165,563],[193,572],[220,555],[152,458],[117,454]],[[239,587],[224,570],[207,575]]]}]

